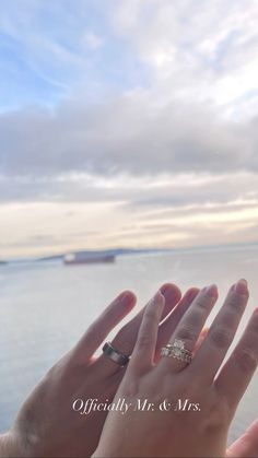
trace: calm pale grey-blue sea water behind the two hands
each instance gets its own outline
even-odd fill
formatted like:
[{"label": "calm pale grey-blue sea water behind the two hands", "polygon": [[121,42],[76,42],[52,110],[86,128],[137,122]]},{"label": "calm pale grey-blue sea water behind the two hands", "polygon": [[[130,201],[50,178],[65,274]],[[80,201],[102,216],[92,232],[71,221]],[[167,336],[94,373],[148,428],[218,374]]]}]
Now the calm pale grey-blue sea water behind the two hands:
[{"label": "calm pale grey-blue sea water behind the two hands", "polygon": [[[250,300],[235,341],[258,305],[257,246],[122,256],[114,265],[0,267],[0,432],[10,426],[45,372],[122,290],[138,296],[132,316],[164,282],[175,282],[183,291],[215,282],[220,300],[211,320],[239,278],[248,280]],[[258,416],[257,388],[256,373],[232,423],[230,441]]]}]

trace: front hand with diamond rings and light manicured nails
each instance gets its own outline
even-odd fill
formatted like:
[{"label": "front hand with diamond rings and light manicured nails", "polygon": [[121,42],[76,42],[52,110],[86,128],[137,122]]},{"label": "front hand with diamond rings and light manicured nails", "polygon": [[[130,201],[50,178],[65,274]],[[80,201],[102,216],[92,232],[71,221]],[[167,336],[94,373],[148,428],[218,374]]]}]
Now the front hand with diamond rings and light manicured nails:
[{"label": "front hand with diamond rings and light manicured nails", "polygon": [[[181,340],[192,352],[216,298],[215,285],[203,289],[172,333],[171,343]],[[125,398],[131,409],[125,415],[109,412],[94,457],[226,456],[230,423],[258,362],[256,309],[222,366],[247,301],[247,284],[242,280],[231,287],[189,365],[166,356],[154,364],[157,325],[165,303],[157,292],[145,309],[131,361],[114,400]],[[140,411],[139,400],[142,403],[145,399],[150,410]]]}]

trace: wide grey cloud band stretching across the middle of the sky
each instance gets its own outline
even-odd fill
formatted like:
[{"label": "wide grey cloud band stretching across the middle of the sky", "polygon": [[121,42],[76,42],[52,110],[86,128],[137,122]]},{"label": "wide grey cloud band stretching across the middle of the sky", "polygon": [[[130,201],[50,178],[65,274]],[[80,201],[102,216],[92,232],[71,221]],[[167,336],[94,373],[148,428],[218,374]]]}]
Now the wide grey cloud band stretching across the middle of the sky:
[{"label": "wide grey cloud band stretching across the middle of the sky", "polygon": [[71,103],[55,113],[2,115],[1,174],[257,171],[257,117],[221,120],[203,105],[155,108],[150,98],[137,94],[91,107]]}]

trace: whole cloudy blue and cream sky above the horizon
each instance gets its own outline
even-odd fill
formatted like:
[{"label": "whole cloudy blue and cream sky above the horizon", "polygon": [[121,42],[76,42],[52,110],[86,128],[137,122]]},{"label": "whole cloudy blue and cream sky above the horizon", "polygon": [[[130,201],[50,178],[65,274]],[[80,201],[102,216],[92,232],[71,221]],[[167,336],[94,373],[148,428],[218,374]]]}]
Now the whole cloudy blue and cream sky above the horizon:
[{"label": "whole cloudy blue and cream sky above the horizon", "polygon": [[0,259],[258,240],[258,3],[1,0]]}]

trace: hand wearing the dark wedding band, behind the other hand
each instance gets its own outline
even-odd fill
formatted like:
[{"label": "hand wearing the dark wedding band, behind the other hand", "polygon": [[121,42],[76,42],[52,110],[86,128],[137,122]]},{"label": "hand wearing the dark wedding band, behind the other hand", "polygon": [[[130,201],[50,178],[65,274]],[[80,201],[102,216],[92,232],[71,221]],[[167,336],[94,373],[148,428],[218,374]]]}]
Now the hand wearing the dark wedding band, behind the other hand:
[{"label": "hand wearing the dark wedding band, behind the other hand", "polygon": [[[181,315],[198,293],[189,290],[183,300],[177,286],[165,284],[161,291],[165,307],[159,328],[159,347],[167,341]],[[0,439],[4,456],[25,457],[86,457],[97,446],[106,412],[91,415],[73,411],[74,400],[113,400],[125,374],[105,355],[94,357],[96,349],[109,331],[132,309],[136,297],[131,292],[120,294],[87,329],[85,334],[66,354],[34,389],[21,408],[11,431]],[[113,340],[120,352],[132,353],[144,309],[125,325]]]}]

